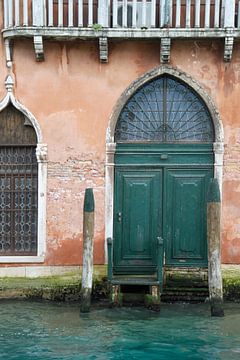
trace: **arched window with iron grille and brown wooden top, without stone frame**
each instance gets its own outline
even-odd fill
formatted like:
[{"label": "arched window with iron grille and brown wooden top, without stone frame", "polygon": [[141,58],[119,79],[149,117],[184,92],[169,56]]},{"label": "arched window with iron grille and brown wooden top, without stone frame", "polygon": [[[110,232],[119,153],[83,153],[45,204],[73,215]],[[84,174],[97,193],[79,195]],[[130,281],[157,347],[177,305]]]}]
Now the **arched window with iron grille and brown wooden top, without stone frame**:
[{"label": "arched window with iron grille and brown wooden top, without stone frame", "polygon": [[0,113],[0,256],[37,255],[37,137],[12,105]]}]

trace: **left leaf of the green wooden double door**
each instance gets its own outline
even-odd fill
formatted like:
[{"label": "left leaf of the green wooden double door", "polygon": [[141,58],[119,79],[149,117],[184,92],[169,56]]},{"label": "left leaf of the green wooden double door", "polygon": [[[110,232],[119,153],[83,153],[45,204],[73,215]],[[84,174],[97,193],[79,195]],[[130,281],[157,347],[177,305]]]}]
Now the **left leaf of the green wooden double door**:
[{"label": "left leaf of the green wooden double door", "polygon": [[114,272],[153,273],[162,234],[162,170],[116,169]]}]

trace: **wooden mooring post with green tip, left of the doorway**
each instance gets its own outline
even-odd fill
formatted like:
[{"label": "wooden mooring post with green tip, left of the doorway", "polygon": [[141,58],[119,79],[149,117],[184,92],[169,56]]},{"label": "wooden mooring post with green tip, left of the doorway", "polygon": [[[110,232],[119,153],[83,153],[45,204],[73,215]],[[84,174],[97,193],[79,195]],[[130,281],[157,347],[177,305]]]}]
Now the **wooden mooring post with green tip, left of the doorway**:
[{"label": "wooden mooring post with green tip, left of the doorway", "polygon": [[93,189],[85,190],[83,207],[83,268],[80,311],[89,312],[93,280],[94,196]]}]

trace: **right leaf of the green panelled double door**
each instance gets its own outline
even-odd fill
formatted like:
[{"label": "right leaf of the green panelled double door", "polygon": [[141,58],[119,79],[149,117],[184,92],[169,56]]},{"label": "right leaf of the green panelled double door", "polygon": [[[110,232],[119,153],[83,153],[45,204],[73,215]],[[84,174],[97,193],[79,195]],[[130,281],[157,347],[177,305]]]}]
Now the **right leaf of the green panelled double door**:
[{"label": "right leaf of the green panelled double door", "polygon": [[206,265],[206,192],[211,169],[166,170],[166,263]]}]

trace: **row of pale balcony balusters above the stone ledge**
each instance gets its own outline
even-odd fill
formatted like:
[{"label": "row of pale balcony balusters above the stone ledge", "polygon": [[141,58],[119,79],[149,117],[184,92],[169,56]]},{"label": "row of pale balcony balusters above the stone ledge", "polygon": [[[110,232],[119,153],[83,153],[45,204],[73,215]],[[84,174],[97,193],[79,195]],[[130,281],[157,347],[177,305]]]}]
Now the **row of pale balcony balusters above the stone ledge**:
[{"label": "row of pale balcony balusters above the stone ledge", "polygon": [[4,28],[239,27],[239,9],[235,0],[4,0]]}]

